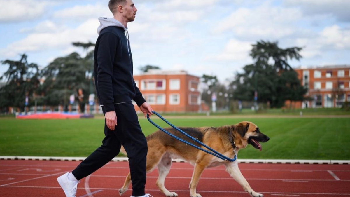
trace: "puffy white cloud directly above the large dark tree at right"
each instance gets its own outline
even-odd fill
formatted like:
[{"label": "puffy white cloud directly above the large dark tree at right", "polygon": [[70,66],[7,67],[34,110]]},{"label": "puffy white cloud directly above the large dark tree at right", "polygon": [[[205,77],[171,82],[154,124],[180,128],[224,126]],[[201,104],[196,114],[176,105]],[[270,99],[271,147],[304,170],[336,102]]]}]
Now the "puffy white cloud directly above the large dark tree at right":
[{"label": "puffy white cloud directly above the large dark tree at right", "polygon": [[218,24],[216,33],[233,32],[248,40],[277,40],[296,33],[302,14],[295,8],[260,6],[239,8]]}]

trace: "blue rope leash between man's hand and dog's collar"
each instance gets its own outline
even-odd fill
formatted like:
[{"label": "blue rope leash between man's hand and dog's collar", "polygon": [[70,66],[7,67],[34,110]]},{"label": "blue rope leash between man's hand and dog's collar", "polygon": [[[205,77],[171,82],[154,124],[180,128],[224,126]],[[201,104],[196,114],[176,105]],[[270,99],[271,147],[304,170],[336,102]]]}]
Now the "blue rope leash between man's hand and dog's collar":
[{"label": "blue rope leash between man's hand and dog's collar", "polygon": [[172,126],[174,129],[180,131],[182,134],[186,135],[187,137],[191,138],[193,141],[195,141],[195,142],[201,144],[202,146],[204,146],[205,148],[207,148],[207,149],[209,149],[209,150],[211,150],[211,151],[205,150],[205,149],[203,149],[203,148],[201,148],[201,147],[198,147],[198,146],[195,145],[195,144],[192,144],[192,143],[190,143],[190,142],[187,142],[186,140],[183,140],[183,139],[181,139],[181,138],[179,138],[179,137],[177,137],[177,136],[175,136],[175,135],[169,133],[169,131],[163,129],[163,128],[160,127],[158,124],[154,123],[154,122],[149,118],[149,115],[147,114],[147,120],[148,120],[149,122],[151,122],[151,123],[152,123],[155,127],[157,127],[158,129],[162,130],[164,133],[166,133],[166,134],[168,134],[168,135],[174,137],[176,140],[179,140],[179,141],[181,141],[181,142],[183,142],[183,143],[185,143],[185,144],[189,144],[189,145],[191,145],[191,146],[193,146],[193,147],[195,147],[195,148],[197,148],[197,149],[200,149],[200,150],[202,150],[202,151],[204,151],[204,152],[207,152],[207,153],[209,153],[209,154],[211,154],[211,155],[214,155],[214,156],[216,156],[216,157],[218,157],[218,158],[220,158],[220,159],[223,159],[223,160],[226,160],[226,161],[230,161],[230,162],[236,161],[236,159],[237,159],[237,154],[236,154],[236,150],[235,150],[235,149],[233,149],[233,151],[235,152],[235,157],[233,157],[232,159],[229,158],[229,157],[226,157],[225,155],[223,155],[223,154],[217,152],[216,150],[214,150],[214,149],[208,147],[207,145],[203,144],[201,141],[197,140],[196,138],[194,138],[194,137],[188,135],[185,131],[183,131],[183,130],[177,128],[175,125],[173,125],[172,123],[170,123],[169,121],[167,121],[165,118],[163,118],[160,114],[156,113],[155,111],[152,111],[152,113],[155,114],[155,115],[157,115],[158,117],[160,117],[164,122],[166,122],[167,124],[169,124],[170,126]]}]

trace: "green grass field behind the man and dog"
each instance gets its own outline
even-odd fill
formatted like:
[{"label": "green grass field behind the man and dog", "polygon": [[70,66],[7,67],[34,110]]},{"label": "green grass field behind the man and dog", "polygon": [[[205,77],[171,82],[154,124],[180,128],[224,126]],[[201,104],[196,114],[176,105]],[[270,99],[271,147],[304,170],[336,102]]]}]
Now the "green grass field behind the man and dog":
[{"label": "green grass field behind the man and dog", "polygon": [[[167,118],[167,116],[164,116]],[[152,120],[168,127],[158,117]],[[239,151],[247,159],[350,159],[349,118],[168,118],[177,127],[219,127],[251,121],[271,140],[262,151],[250,145]],[[100,146],[104,137],[103,119],[16,120],[0,118],[1,156],[78,156],[86,157]],[[145,135],[157,129],[140,117]],[[175,140],[175,139],[174,139]]]}]

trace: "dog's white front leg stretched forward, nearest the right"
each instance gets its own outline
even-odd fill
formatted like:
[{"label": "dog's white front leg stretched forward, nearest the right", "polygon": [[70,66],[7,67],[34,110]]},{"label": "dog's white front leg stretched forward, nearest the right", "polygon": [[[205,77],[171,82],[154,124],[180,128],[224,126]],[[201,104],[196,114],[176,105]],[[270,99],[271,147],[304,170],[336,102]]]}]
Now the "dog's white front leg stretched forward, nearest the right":
[{"label": "dog's white front leg stretched forward, nearest the right", "polygon": [[263,197],[264,196],[261,193],[255,192],[250,187],[249,183],[247,182],[247,180],[244,178],[244,176],[240,172],[240,170],[238,168],[237,161],[234,161],[232,163],[227,163],[227,164],[225,164],[225,166],[226,166],[226,171],[229,172],[231,177],[233,177],[237,181],[237,183],[243,187],[244,191],[248,192],[252,197]]}]

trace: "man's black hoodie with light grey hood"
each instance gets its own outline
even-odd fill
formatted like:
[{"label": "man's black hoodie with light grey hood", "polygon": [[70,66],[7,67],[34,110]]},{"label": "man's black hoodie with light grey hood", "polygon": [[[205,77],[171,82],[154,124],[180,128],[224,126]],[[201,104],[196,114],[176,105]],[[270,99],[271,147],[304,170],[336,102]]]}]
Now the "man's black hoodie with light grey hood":
[{"label": "man's black hoodie with light grey hood", "polygon": [[[127,29],[118,20],[99,18],[101,25],[95,46],[94,78],[96,93],[105,112],[114,104],[134,100],[146,102],[133,78],[133,62]],[[125,34],[126,33],[126,34]]]}]

